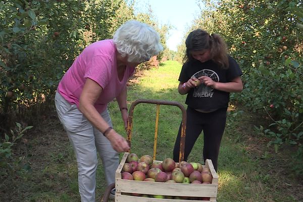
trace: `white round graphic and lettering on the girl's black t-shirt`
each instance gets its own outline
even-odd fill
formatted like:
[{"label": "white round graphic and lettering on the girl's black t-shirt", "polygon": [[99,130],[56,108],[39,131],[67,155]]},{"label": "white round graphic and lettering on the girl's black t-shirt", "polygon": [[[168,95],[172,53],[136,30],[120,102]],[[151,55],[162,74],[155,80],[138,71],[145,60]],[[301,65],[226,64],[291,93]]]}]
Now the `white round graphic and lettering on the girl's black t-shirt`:
[{"label": "white round graphic and lettering on the girl's black t-shirt", "polygon": [[[196,72],[192,75],[195,78],[199,78],[200,76],[208,76],[213,79],[215,82],[219,82],[219,76],[216,72],[210,69],[204,69]],[[197,87],[194,88],[193,97],[213,97],[214,92],[212,92],[214,88],[201,83]]]}]

